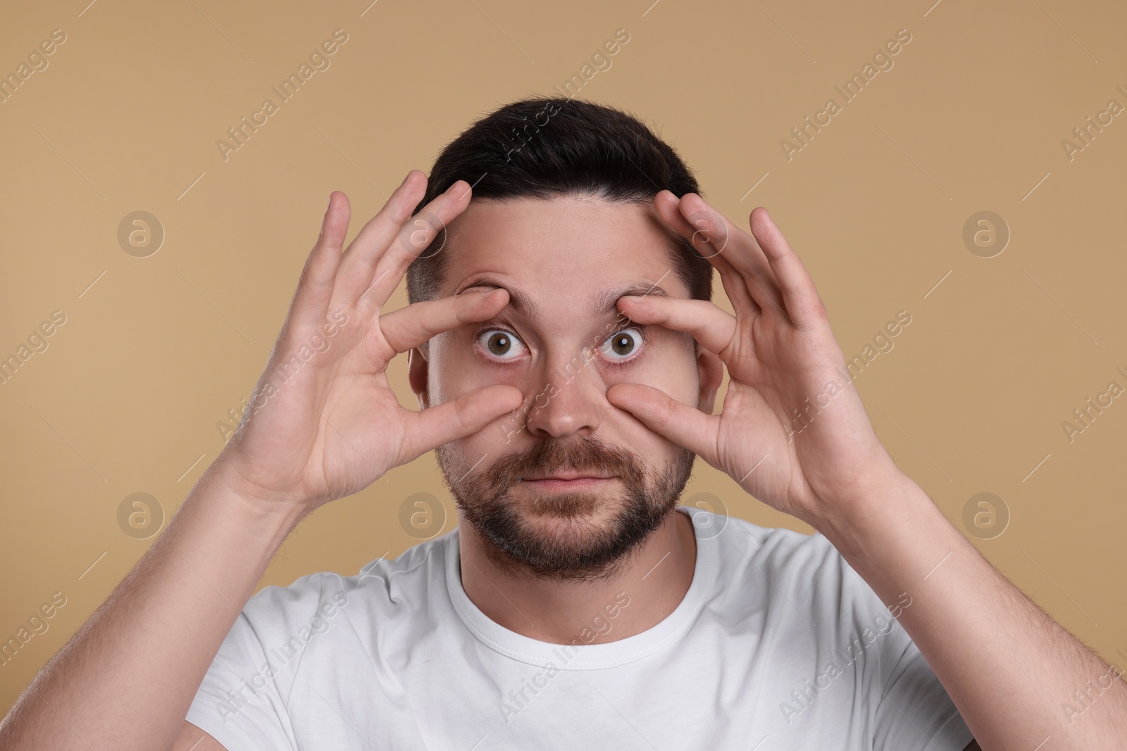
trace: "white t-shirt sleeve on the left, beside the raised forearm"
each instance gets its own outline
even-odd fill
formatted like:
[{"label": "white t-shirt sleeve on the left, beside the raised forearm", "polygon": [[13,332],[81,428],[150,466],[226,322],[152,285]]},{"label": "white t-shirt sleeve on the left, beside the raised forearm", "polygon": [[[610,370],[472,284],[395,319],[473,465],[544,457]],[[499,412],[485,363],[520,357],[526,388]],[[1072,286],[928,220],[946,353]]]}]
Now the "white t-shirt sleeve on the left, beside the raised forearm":
[{"label": "white t-shirt sleeve on the left, beside the raised forearm", "polygon": [[330,614],[332,590],[340,591],[338,582],[335,575],[312,574],[250,598],[186,719],[227,751],[296,751],[286,698],[305,645]]}]

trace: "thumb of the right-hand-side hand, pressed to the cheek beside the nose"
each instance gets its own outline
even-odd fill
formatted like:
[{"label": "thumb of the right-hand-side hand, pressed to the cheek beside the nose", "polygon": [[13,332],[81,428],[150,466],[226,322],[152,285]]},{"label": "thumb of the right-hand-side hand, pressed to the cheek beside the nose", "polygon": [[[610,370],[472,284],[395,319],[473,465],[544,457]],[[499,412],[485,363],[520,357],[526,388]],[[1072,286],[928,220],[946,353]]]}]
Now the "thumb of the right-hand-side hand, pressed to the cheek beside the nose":
[{"label": "thumb of the right-hand-side hand, pressed to the cheek beside the nose", "polygon": [[630,412],[659,436],[684,446],[709,464],[715,463],[719,415],[704,414],[640,383],[614,384],[606,390],[606,401]]}]

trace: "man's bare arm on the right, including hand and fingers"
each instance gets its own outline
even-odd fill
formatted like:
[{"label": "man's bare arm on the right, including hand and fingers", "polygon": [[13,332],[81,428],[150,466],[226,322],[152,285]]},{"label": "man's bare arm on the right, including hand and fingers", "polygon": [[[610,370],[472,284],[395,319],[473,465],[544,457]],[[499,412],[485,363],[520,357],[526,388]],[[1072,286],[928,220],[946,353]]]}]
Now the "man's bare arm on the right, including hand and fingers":
[{"label": "man's bare arm on the right, including hand and fingers", "polygon": [[[735,315],[655,295],[619,307],[691,333],[727,367],[728,392],[718,415],[641,384],[616,384],[607,399],[824,534],[882,601],[912,594],[899,622],[986,751],[1121,745],[1118,670],[1006,581],[896,467],[813,279],[766,211],[752,212],[748,234],[695,194],[663,190],[654,204],[719,271]],[[1074,691],[1089,691],[1085,705]]]}]

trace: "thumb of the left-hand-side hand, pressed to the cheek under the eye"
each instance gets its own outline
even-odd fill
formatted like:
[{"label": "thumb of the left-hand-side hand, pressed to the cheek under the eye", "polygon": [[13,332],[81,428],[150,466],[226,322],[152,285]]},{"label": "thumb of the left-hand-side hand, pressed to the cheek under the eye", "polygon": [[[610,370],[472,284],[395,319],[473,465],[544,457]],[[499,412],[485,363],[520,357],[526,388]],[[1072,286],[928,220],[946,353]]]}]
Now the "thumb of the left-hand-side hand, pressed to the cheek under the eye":
[{"label": "thumb of the left-hand-side hand, pressed to the cheek under the eye", "polygon": [[403,435],[406,464],[427,452],[478,432],[497,418],[515,411],[524,402],[520,388],[495,384],[482,386],[452,402],[408,410]]}]

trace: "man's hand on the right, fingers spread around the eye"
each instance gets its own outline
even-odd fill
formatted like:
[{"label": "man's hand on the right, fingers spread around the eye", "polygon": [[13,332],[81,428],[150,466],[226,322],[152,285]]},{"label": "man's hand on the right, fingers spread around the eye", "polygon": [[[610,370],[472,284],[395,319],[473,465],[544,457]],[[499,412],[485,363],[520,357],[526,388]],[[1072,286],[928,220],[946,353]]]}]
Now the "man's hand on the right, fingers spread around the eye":
[{"label": "man's hand on the right, fingers spread around the eye", "polygon": [[691,334],[729,374],[721,413],[615,384],[607,400],[698,454],[756,499],[816,529],[899,476],[853,387],[802,261],[765,208],[751,234],[696,194],[658,193],[660,217],[720,272],[735,315],[708,301],[628,296],[622,314]]}]

